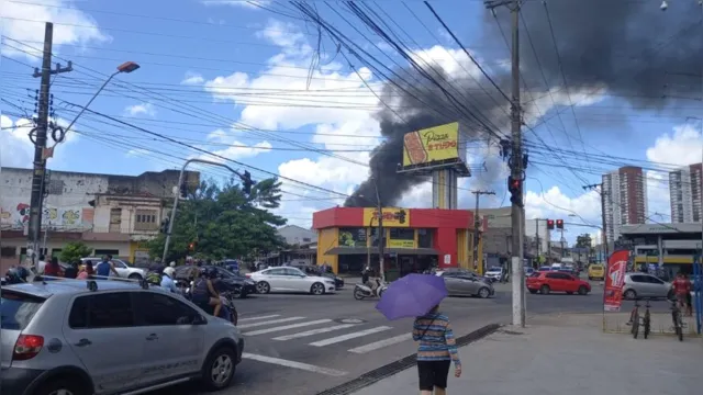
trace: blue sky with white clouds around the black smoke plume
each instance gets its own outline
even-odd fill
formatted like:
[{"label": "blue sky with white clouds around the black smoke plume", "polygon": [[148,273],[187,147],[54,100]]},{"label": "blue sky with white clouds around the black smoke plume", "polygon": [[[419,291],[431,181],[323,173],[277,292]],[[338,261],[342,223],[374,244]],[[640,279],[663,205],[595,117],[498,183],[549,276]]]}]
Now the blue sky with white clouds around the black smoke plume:
[{"label": "blue sky with white clouds around the black smoke plume", "polygon": [[[378,122],[373,119],[378,100],[366,83],[378,90],[382,79],[365,68],[368,65],[358,61],[354,65],[356,71],[352,70],[344,57],[335,54],[335,43],[330,40],[321,46],[323,66],[309,75],[316,34],[312,24],[299,19],[245,1],[0,0],[0,3],[3,10],[2,166],[31,166],[27,128],[14,126],[25,126],[23,114],[34,111],[33,92],[38,88],[38,80],[31,74],[32,68],[40,65],[35,55],[42,45],[44,21],[56,23],[54,61],[72,60],[75,65],[75,71],[56,77],[52,87],[53,108],[59,123],[75,116],[77,110],[69,103],[85,104],[119,64],[132,60],[142,66],[134,74],[115,77],[91,104],[91,110],[113,120],[86,114],[75,126],[77,133],[70,133],[67,142],[57,147],[49,162],[52,169],[136,174],[180,167],[187,157],[221,160],[114,121],[119,120],[283,176],[287,193],[280,213],[292,223],[310,226],[310,213],[337,204],[339,201],[335,198],[349,194],[365,179],[364,163],[368,162],[369,151],[381,142]],[[299,16],[287,2],[259,3]],[[358,20],[339,11],[343,19],[323,2],[314,3],[324,18],[345,34],[362,41],[354,29],[356,25],[361,34],[370,37],[371,43],[365,44],[369,53],[378,57],[389,55],[389,61],[392,58],[402,63],[392,49],[380,44],[381,38],[360,27]],[[392,15],[398,23],[394,29],[410,32],[414,43],[409,45],[416,56],[437,63],[450,75],[476,71],[475,68],[467,71],[473,66],[421,2],[376,4],[379,12]],[[493,32],[484,32],[479,27],[484,12],[481,2],[433,4],[486,68],[500,71],[505,67],[507,47],[486,45],[484,40],[484,34],[498,35],[500,31],[495,27]],[[527,49],[523,50],[523,56],[529,55]],[[457,67],[459,63],[466,67]],[[600,224],[599,196],[594,192],[585,193],[581,185],[600,182],[601,172],[628,162],[662,168],[650,162],[669,166],[700,161],[700,126],[687,120],[687,116],[700,115],[693,104],[690,114],[687,111],[655,113],[648,108],[632,109],[622,99],[609,97],[606,87],[598,94],[570,92],[568,100],[562,87],[554,89],[554,94],[547,97],[544,87],[531,88],[532,98],[542,99],[538,99],[538,109],[526,109],[525,120],[539,124],[537,114],[546,111],[546,116],[553,117],[535,126],[534,133],[547,145],[581,153],[581,156],[588,151],[596,157],[593,162],[583,162],[578,156],[563,154],[569,163],[582,169],[574,174],[555,166],[557,160],[548,148],[531,153],[535,163],[528,169],[526,181],[528,218],[563,217],[567,222]],[[322,91],[327,92],[320,93]],[[528,99],[525,95],[524,100]],[[279,105],[271,106],[271,103]],[[573,112],[570,103],[579,103]],[[561,115],[554,116],[555,111]],[[533,132],[525,131],[525,134],[534,140]],[[326,154],[337,157],[321,155],[310,147],[326,149]],[[504,165],[495,159],[494,148],[477,145],[472,149],[471,160],[486,161],[491,174],[504,170]],[[607,157],[616,159],[603,159]],[[205,172],[205,177],[222,180],[226,176],[221,169],[196,168]],[[268,176],[256,170],[252,173],[255,178]],[[668,191],[666,183],[662,184],[666,173],[650,172],[648,177],[648,215],[655,221],[669,222]],[[487,206],[509,203],[504,198],[503,178],[498,182],[487,181],[488,185],[483,185],[480,174],[465,181],[459,191],[461,206],[473,205],[469,193],[473,187],[488,187],[496,192],[495,199],[482,202]],[[406,206],[429,204],[429,185],[413,189],[402,202]],[[582,218],[568,217],[569,213]],[[568,239],[584,232],[594,233],[594,229],[570,226]]]}]

